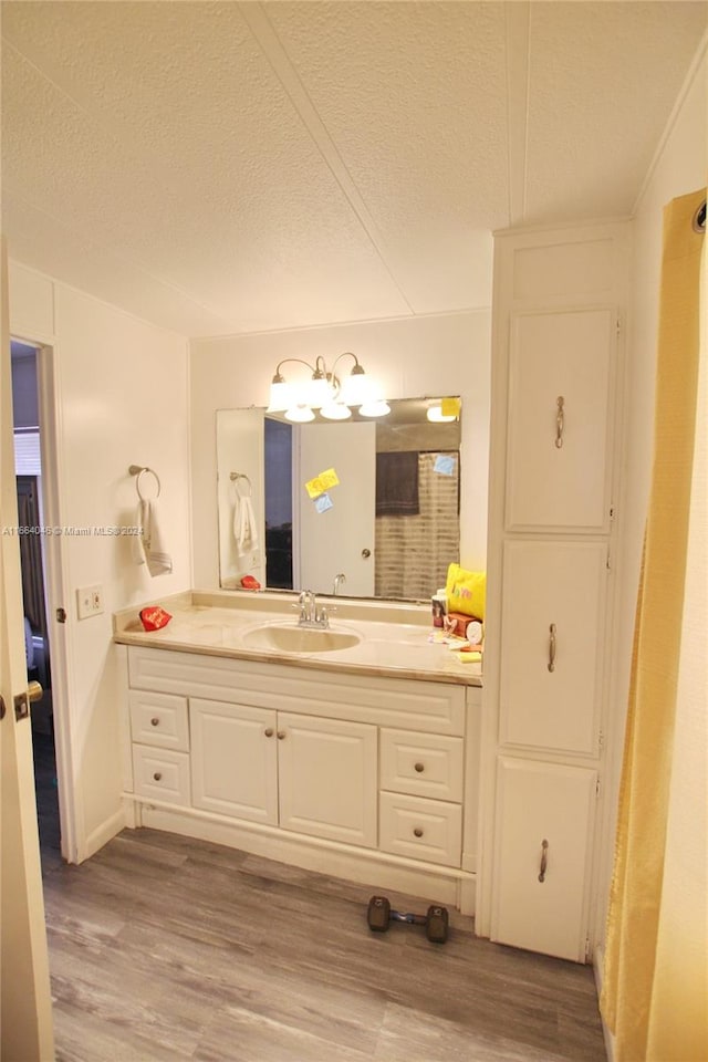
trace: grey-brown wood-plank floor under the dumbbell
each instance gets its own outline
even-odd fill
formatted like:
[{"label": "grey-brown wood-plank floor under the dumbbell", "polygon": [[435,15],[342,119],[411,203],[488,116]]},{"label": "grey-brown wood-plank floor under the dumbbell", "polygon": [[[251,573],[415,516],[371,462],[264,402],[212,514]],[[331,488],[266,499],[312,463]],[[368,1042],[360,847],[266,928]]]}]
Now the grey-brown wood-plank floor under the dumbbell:
[{"label": "grey-brown wood-plank floor under the dumbbell", "polygon": [[44,891],[59,1062],[605,1059],[590,967],[372,934],[366,886],[138,830]]}]

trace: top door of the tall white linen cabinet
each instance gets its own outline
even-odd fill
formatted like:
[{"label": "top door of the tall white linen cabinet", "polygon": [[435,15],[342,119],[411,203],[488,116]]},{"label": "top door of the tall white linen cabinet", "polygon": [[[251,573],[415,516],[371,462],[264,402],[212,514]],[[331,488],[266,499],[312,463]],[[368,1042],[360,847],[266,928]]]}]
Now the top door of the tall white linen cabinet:
[{"label": "top door of the tall white linen cabinet", "polygon": [[615,321],[611,309],[513,320],[508,530],[608,530]]}]

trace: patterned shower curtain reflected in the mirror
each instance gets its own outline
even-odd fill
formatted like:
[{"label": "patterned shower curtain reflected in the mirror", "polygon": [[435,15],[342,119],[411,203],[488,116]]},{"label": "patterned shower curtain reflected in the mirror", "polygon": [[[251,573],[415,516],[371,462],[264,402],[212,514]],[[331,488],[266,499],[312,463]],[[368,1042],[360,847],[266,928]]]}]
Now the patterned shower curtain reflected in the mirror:
[{"label": "patterned shower curtain reflected in the mirror", "polygon": [[376,517],[377,597],[429,597],[459,561],[459,455],[452,476],[434,470],[438,456],[418,455],[417,516]]}]

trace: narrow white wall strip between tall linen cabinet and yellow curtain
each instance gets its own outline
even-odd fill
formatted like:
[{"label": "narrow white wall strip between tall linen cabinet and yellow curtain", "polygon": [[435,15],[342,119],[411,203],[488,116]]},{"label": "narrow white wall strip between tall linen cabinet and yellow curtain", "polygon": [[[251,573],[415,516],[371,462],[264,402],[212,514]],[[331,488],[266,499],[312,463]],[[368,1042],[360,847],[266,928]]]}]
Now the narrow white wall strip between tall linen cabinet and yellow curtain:
[{"label": "narrow white wall strip between tall linen cabinet and yellow curtain", "polygon": [[[610,802],[616,800],[622,768],[634,617],[652,478],[654,394],[658,294],[662,271],[663,209],[678,196],[705,187],[708,173],[707,144],[708,59],[704,42],[697,62],[667,128],[660,149],[648,174],[633,222],[634,261],[632,269],[629,343],[624,410],[623,483],[618,500],[620,542],[618,583],[615,625],[615,668],[612,708],[616,729],[610,736],[613,751]],[[614,808],[612,811],[614,815]],[[611,833],[614,824],[611,824]],[[604,926],[606,892],[611,872],[607,853],[605,882],[601,889],[598,926]]]}]

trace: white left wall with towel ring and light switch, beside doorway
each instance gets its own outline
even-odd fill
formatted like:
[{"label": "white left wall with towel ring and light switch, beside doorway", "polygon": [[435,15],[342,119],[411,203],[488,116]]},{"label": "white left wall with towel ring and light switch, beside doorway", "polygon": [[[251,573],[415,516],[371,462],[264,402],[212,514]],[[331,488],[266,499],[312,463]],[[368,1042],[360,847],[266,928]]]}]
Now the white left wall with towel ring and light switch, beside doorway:
[{"label": "white left wall with towel ring and light switch, beside doorway", "polygon": [[[66,655],[65,716],[58,747],[74,777],[76,855],[95,851],[123,824],[118,748],[119,683],[112,613],[188,590],[188,356],[184,337],[146,324],[19,264],[10,268],[13,336],[45,343],[54,368],[59,523],[98,528],[135,523],[131,464],[155,468],[170,575],[150,579],[126,537],[64,534],[62,600],[69,618],[50,620],[53,656]],[[104,613],[76,617],[76,589],[101,584]],[[55,695],[56,699],[56,695]],[[60,708],[61,711],[61,708]],[[66,779],[64,779],[66,781]],[[69,782],[67,782],[69,784]]]}]

